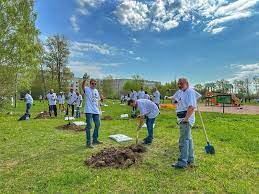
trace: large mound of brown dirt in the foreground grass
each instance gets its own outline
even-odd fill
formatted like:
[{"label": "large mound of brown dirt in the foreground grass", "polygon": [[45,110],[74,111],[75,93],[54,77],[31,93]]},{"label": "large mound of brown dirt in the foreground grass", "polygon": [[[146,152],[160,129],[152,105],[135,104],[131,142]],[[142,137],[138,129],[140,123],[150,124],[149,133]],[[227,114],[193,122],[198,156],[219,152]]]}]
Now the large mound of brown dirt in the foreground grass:
[{"label": "large mound of brown dirt in the foreground grass", "polygon": [[131,145],[121,148],[105,148],[87,159],[85,164],[94,168],[128,168],[138,161],[141,161],[141,153],[146,151],[147,148],[142,145]]}]

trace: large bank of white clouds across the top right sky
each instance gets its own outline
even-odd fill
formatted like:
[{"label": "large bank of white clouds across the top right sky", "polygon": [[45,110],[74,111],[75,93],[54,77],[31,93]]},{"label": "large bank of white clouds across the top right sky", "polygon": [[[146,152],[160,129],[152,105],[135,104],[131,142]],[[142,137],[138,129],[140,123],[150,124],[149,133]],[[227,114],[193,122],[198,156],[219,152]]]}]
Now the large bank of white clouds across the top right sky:
[{"label": "large bank of white clouds across the top right sky", "polygon": [[[150,28],[171,30],[185,21],[204,25],[204,31],[217,34],[227,22],[251,17],[259,0],[153,0],[146,3],[122,0],[115,15],[122,25],[134,31]],[[202,18],[202,19],[201,19]]]}]

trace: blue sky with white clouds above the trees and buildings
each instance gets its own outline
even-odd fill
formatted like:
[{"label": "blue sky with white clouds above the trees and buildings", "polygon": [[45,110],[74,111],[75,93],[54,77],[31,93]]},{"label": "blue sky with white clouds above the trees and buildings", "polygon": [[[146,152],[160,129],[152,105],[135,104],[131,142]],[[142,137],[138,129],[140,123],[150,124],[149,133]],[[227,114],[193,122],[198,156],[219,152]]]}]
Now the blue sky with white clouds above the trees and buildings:
[{"label": "blue sky with white clouds above the trees and buildings", "polygon": [[69,40],[75,76],[191,83],[259,75],[259,0],[36,0],[44,41]]}]

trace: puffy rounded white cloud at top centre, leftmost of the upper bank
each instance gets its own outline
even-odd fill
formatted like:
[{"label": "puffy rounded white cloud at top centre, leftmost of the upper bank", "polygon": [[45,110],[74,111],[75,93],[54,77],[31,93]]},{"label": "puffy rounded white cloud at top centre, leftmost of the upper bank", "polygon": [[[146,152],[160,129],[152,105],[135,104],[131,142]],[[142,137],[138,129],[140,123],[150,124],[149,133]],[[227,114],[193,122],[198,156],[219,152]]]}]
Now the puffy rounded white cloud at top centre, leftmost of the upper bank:
[{"label": "puffy rounded white cloud at top centre, leftmost of the upper bank", "polygon": [[133,31],[145,29],[150,22],[148,6],[138,1],[123,0],[114,13],[122,25],[129,26]]}]

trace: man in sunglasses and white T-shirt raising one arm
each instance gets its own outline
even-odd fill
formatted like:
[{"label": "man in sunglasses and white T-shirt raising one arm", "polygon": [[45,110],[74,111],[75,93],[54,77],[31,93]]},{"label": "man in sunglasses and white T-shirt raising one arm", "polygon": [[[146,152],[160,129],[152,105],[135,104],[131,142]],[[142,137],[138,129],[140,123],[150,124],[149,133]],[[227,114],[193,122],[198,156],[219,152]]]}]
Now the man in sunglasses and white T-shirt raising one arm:
[{"label": "man in sunglasses and white T-shirt raising one arm", "polygon": [[[93,148],[93,145],[102,144],[98,140],[100,128],[100,95],[96,87],[96,80],[90,80],[90,87],[86,87],[86,80],[82,83],[82,90],[85,94],[85,116],[86,116],[86,147]],[[93,141],[91,141],[91,123],[94,121]]]}]

